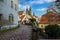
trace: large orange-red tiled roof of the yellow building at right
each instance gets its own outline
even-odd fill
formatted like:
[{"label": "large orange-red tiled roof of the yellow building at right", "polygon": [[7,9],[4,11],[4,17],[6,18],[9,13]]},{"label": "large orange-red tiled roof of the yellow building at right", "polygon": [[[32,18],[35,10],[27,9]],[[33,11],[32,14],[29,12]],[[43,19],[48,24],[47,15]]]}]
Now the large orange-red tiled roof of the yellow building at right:
[{"label": "large orange-red tiled roof of the yellow building at right", "polygon": [[54,12],[47,12],[46,14],[42,15],[41,19],[39,20],[40,23],[44,24],[58,24],[60,23],[57,20],[60,20],[59,18],[57,19],[57,13]]}]

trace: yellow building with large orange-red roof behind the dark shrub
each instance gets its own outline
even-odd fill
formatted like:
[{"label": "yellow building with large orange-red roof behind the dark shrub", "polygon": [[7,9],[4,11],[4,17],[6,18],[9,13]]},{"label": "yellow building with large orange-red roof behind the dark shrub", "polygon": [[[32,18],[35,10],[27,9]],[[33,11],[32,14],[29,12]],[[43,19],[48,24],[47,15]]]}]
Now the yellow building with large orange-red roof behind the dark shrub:
[{"label": "yellow building with large orange-red roof behind the dark shrub", "polygon": [[42,15],[40,22],[39,22],[39,28],[45,29],[45,26],[49,24],[58,24],[60,26],[60,16],[53,12],[47,12],[46,14]]}]

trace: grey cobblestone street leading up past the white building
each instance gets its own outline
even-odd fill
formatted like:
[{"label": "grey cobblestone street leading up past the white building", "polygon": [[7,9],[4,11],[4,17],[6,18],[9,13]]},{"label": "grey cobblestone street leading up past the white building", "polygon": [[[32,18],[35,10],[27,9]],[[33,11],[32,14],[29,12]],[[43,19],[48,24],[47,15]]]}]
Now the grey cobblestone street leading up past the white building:
[{"label": "grey cobblestone street leading up past the white building", "polygon": [[31,37],[31,26],[21,25],[20,28],[0,34],[0,40],[29,40]]}]

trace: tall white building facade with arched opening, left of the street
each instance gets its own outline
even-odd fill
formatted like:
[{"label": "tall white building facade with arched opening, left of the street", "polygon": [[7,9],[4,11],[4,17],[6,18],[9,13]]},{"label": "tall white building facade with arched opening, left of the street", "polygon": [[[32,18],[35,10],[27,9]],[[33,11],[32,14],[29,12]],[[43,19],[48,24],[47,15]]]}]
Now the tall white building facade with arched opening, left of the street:
[{"label": "tall white building facade with arched opening, left of the street", "polygon": [[0,0],[0,20],[18,25],[18,0]]}]

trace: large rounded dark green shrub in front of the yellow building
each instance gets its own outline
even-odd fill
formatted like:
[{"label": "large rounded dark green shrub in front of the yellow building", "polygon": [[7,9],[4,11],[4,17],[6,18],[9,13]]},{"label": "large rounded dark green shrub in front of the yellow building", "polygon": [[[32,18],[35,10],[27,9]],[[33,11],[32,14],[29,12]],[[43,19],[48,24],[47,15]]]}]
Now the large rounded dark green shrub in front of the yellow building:
[{"label": "large rounded dark green shrub in front of the yellow building", "polygon": [[60,33],[60,27],[55,25],[48,25],[45,27],[45,33],[51,38],[57,38],[58,34]]}]

